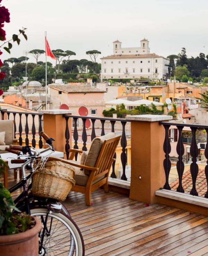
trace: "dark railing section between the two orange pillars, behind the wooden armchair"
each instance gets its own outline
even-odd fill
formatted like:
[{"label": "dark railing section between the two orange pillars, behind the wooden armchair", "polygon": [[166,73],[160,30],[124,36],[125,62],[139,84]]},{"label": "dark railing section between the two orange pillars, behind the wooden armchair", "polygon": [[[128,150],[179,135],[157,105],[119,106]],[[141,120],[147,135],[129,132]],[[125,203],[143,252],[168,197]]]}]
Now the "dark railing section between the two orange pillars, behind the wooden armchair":
[{"label": "dark railing section between the two orange pillars, behind the wooden armchair", "polygon": [[[121,176],[122,180],[127,180],[126,174],[125,174],[125,168],[127,165],[127,154],[126,154],[126,147],[127,147],[127,138],[131,138],[131,125],[128,120],[125,119],[113,119],[113,118],[102,118],[102,117],[85,117],[85,116],[68,116],[63,115],[66,119],[66,132],[65,132],[65,138],[66,138],[66,145],[65,145],[65,151],[67,154],[67,159],[69,158],[68,150],[70,148],[69,146],[69,127],[68,127],[68,120],[69,118],[73,119],[73,129],[71,132],[71,136],[73,136],[72,142],[73,142],[73,148],[78,149],[78,143],[82,143],[83,151],[87,151],[87,144],[90,144],[92,140],[96,136],[103,136],[107,133],[113,132],[116,135],[121,135],[121,141],[120,146],[122,148],[121,152],[121,163],[122,163],[122,169],[123,174]],[[90,126],[89,129],[86,128],[86,120],[89,119],[92,123],[92,127]],[[114,158],[116,159],[116,153],[114,155]],[[75,159],[77,161],[77,154],[75,155]],[[112,164],[112,173],[111,178],[116,178],[115,174],[115,161]]]}]

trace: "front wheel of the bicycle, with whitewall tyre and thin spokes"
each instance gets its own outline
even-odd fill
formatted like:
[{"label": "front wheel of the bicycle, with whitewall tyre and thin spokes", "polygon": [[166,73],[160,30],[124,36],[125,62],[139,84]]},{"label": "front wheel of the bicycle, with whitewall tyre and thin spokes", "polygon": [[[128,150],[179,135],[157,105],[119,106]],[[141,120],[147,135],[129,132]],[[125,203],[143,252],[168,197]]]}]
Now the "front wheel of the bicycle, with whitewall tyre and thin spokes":
[{"label": "front wheel of the bicycle, with whitewall tyre and thin spokes", "polygon": [[46,208],[31,209],[31,215],[42,222],[39,232],[39,241],[42,239],[43,229],[45,233],[43,246],[39,252],[40,256],[84,256],[84,241],[76,223],[62,213],[51,212],[48,214]]}]

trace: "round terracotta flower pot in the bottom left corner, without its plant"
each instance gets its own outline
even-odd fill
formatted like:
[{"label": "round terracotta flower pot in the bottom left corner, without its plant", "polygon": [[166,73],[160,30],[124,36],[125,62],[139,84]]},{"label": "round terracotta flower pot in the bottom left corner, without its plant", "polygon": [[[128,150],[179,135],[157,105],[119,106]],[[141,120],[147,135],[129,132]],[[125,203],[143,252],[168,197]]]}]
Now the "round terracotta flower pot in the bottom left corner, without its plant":
[{"label": "round terracotta flower pot in the bottom left corner, without its plant", "polygon": [[38,256],[38,232],[41,222],[37,218],[34,228],[18,234],[0,236],[0,256]]}]

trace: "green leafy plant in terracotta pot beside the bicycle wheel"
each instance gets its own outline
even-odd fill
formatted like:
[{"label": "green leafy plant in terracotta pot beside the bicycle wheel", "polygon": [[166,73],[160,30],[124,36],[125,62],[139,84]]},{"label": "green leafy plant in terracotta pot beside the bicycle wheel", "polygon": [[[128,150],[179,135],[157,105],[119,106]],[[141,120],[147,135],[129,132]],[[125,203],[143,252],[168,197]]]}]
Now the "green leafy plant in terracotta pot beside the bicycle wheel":
[{"label": "green leafy plant in terracotta pot beside the bicycle wheel", "polygon": [[[0,159],[0,174],[7,167]],[[40,220],[21,213],[0,182],[0,256],[37,256],[40,230]]]}]

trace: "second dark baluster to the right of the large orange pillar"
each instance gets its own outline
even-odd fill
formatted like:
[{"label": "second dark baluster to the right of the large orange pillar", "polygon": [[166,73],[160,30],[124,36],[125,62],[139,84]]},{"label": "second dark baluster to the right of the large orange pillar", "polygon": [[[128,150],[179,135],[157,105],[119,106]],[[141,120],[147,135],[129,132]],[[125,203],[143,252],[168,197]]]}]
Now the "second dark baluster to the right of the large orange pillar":
[{"label": "second dark baluster to the right of the large orange pillar", "polygon": [[184,146],[183,146],[183,140],[182,140],[182,130],[183,126],[176,126],[179,131],[179,139],[176,146],[176,151],[178,156],[178,161],[176,163],[177,167],[177,173],[179,175],[179,186],[177,187],[178,192],[184,193],[184,189],[182,187],[182,177],[183,177],[183,171],[184,171],[184,163],[183,163],[183,154],[184,154]]}]

